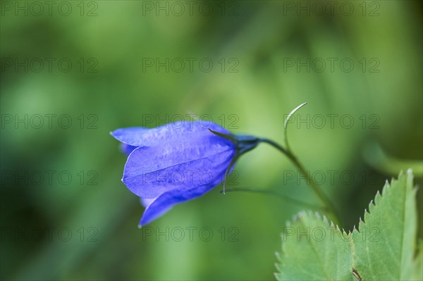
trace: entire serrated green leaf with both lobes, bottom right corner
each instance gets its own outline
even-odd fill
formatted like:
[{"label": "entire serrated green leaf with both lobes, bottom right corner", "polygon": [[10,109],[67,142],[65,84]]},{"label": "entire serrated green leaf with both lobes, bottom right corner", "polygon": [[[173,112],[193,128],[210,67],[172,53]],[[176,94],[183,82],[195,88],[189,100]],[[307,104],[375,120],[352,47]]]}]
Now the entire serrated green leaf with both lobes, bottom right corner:
[{"label": "entire serrated green leaf with both lobes, bottom right corner", "polygon": [[412,172],[376,194],[358,230],[345,233],[324,218],[300,213],[283,230],[277,280],[423,280]]}]

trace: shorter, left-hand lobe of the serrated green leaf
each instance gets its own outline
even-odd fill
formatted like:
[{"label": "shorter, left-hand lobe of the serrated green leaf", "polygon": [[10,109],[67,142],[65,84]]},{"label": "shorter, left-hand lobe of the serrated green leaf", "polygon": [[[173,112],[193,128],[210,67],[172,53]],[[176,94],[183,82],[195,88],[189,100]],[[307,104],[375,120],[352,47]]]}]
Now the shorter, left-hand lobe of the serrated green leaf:
[{"label": "shorter, left-hand lobe of the serrated green leaf", "polygon": [[277,254],[277,280],[354,280],[352,237],[318,214],[299,213],[287,223],[282,253]]}]

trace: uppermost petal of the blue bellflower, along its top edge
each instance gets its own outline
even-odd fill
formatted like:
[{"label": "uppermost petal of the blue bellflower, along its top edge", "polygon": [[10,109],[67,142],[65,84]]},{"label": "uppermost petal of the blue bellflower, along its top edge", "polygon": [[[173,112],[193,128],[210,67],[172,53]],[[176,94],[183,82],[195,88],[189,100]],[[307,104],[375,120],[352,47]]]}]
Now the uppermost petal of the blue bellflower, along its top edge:
[{"label": "uppermost petal of the blue bellflower, along its top edge", "polygon": [[178,121],[152,129],[145,127],[128,127],[114,130],[110,134],[120,142],[131,146],[161,146],[175,142],[185,142],[189,135],[197,139],[210,134],[209,128],[228,134],[223,127],[209,121]]}]

